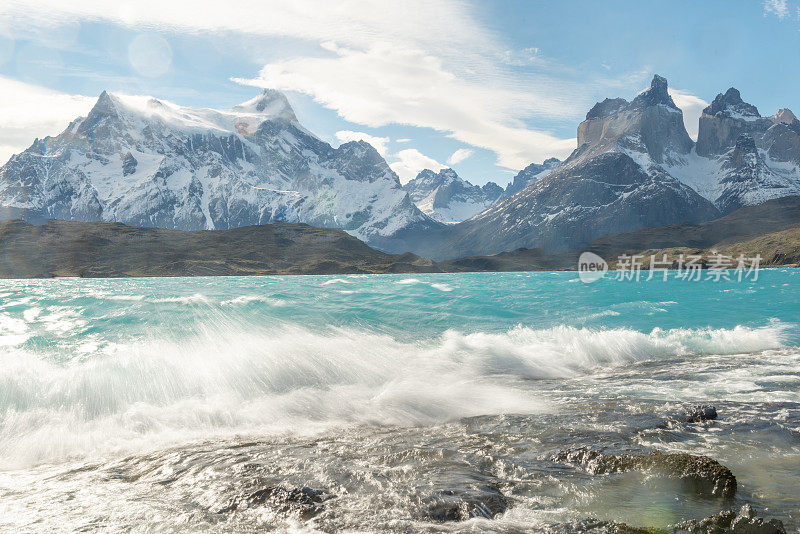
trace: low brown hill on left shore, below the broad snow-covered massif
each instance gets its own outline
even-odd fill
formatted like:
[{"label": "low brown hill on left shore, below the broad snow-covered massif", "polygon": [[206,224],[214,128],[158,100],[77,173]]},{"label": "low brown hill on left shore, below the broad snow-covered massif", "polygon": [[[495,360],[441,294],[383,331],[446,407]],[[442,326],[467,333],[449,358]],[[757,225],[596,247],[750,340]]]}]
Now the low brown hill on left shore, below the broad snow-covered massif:
[{"label": "low brown hill on left shore, below the broad snow-covered massif", "polygon": [[120,223],[0,225],[0,278],[425,272],[433,262],[299,223],[182,231]]}]

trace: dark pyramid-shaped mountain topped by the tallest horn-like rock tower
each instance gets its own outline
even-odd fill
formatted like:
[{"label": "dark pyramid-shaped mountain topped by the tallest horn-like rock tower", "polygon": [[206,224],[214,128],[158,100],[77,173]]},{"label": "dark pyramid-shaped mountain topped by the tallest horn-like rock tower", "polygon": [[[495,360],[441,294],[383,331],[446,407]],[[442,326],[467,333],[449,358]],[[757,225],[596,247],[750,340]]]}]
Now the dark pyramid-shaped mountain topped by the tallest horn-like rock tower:
[{"label": "dark pyramid-shaped mountain topped by the tallest horn-like rock tower", "polygon": [[[439,235],[432,257],[520,247],[579,248],[617,232],[720,215],[661,163],[689,154],[683,113],[660,76],[632,102],[605,100],[578,127],[578,148],[543,178]],[[447,235],[445,235],[447,234]]]}]

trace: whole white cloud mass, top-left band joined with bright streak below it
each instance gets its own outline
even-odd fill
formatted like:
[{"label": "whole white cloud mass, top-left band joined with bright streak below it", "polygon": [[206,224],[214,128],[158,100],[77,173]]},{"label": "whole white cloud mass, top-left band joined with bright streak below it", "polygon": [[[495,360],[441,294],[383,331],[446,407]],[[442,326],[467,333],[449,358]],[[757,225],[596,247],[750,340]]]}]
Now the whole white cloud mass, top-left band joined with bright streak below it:
[{"label": "whole white cloud mass, top-left band joined with bright streak below it", "polygon": [[[515,169],[564,157],[575,146],[573,139],[530,124],[542,118],[579,120],[591,105],[585,79],[533,72],[544,64],[541,51],[509,52],[504,38],[460,0],[0,3],[0,26],[12,31],[76,20],[110,21],[143,32],[231,31],[300,39],[305,44],[297,50],[306,55],[271,62],[256,79],[239,81],[303,92],[368,126],[407,124],[445,132],[494,151],[501,165]],[[309,43],[319,44],[318,52],[309,52]]]}]

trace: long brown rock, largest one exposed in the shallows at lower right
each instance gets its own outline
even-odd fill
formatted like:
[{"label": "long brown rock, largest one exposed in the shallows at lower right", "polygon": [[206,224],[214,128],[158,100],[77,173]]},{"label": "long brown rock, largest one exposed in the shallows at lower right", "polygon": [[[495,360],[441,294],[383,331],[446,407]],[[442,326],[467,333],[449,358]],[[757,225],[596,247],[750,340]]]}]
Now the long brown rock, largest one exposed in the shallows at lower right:
[{"label": "long brown rock, largest one exposed in the shallows at lower right", "polygon": [[586,447],[562,451],[555,461],[579,465],[593,475],[649,471],[683,481],[701,495],[731,498],[736,477],[730,469],[708,456],[686,453],[605,454]]}]

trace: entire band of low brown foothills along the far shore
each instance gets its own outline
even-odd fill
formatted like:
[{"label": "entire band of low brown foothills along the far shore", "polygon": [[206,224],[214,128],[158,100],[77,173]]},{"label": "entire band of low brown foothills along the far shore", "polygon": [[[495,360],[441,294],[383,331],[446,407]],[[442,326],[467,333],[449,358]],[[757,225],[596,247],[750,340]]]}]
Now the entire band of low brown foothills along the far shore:
[{"label": "entire band of low brown foothills along the far shore", "polygon": [[[0,278],[53,276],[214,276],[401,272],[570,270],[583,250],[546,254],[520,248],[434,263],[411,253],[387,254],[346,232],[301,223],[230,230],[165,230],[121,223],[14,220],[0,225]],[[746,206],[701,224],[613,234],[587,249],[610,264],[621,254],[747,257],[762,265],[800,263],[800,197]]]}]

